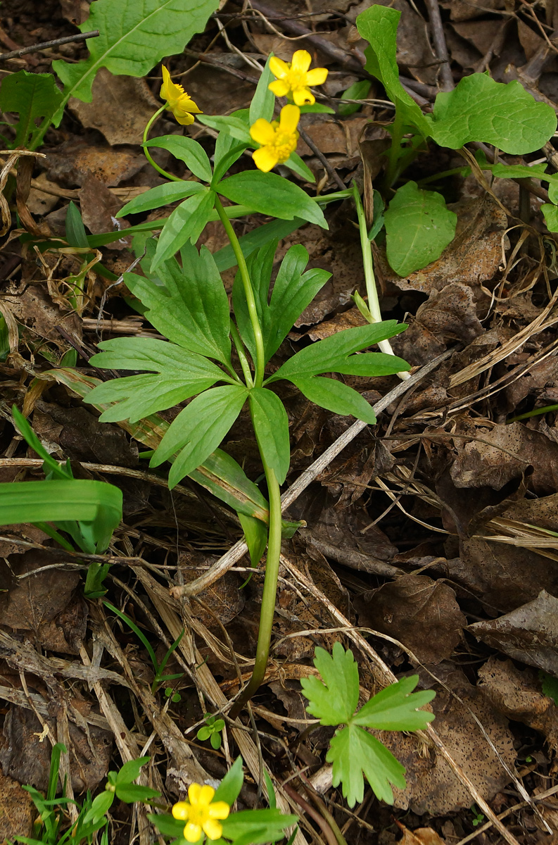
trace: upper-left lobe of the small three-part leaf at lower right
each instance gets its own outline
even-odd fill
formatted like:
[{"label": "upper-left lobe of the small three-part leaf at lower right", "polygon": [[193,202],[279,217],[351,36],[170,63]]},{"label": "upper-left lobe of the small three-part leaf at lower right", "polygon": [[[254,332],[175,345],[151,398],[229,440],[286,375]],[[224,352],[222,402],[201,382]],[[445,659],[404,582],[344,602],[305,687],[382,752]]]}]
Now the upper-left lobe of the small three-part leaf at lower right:
[{"label": "upper-left lobe of the small three-part leaf at lower right", "polygon": [[306,711],[322,725],[349,722],[359,703],[359,668],[353,652],[345,651],[340,642],[333,644],[332,654],[317,647],[314,666],[322,681],[301,678],[302,692],[309,702]]}]

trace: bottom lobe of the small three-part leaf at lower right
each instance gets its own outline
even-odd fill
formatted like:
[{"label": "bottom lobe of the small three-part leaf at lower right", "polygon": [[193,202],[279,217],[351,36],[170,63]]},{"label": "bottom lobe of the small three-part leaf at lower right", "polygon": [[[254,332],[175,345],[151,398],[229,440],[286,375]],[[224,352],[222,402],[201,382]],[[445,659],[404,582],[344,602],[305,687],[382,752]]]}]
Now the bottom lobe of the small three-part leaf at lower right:
[{"label": "bottom lobe of the small three-part leaf at lower right", "polygon": [[364,798],[363,773],[377,799],[386,804],[393,804],[390,783],[399,789],[407,785],[404,766],[376,737],[356,725],[349,725],[335,734],[326,760],[333,763],[333,786],[341,784],[349,807],[360,804]]}]

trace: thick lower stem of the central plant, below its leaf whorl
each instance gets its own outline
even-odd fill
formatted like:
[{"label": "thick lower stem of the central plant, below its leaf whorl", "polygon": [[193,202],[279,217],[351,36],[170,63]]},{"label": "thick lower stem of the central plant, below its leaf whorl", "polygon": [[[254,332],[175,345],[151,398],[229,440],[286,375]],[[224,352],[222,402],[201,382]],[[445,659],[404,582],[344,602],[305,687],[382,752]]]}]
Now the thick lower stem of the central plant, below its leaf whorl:
[{"label": "thick lower stem of the central plant, below its leaf whorl", "polygon": [[260,627],[257,633],[256,662],[252,678],[246,689],[236,701],[230,711],[230,716],[236,718],[246,701],[250,701],[265,677],[268,667],[269,644],[274,624],[275,599],[277,596],[277,581],[279,578],[279,559],[281,554],[281,492],[274,470],[268,466],[265,457],[260,452],[263,470],[268,482],[269,496],[269,538],[268,558],[265,567],[265,581],[263,582],[262,609],[260,610]]}]

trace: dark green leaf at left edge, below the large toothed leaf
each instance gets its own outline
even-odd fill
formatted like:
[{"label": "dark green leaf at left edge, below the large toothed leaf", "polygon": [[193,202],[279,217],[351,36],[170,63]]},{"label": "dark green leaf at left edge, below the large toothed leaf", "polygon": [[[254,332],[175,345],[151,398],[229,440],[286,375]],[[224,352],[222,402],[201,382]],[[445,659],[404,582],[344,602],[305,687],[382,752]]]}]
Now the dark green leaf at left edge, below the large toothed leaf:
[{"label": "dark green leaf at left edge, below the large toothed leaf", "polygon": [[62,91],[58,90],[52,74],[28,74],[26,70],[19,70],[17,74],[4,76],[0,108],[3,112],[19,114],[14,127],[15,138],[11,142],[13,147],[36,150],[61,102]]}]

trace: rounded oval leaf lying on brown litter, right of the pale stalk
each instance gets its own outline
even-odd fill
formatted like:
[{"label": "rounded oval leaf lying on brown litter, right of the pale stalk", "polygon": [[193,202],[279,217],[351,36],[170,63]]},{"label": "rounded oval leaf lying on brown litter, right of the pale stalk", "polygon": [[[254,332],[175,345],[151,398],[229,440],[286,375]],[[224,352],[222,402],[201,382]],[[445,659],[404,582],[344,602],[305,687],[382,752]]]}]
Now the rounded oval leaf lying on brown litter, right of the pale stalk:
[{"label": "rounded oval leaf lying on brown litter, right of the pale stalk", "polygon": [[417,188],[415,182],[398,188],[385,213],[390,266],[407,276],[436,261],[452,242],[457,221],[442,194]]}]

